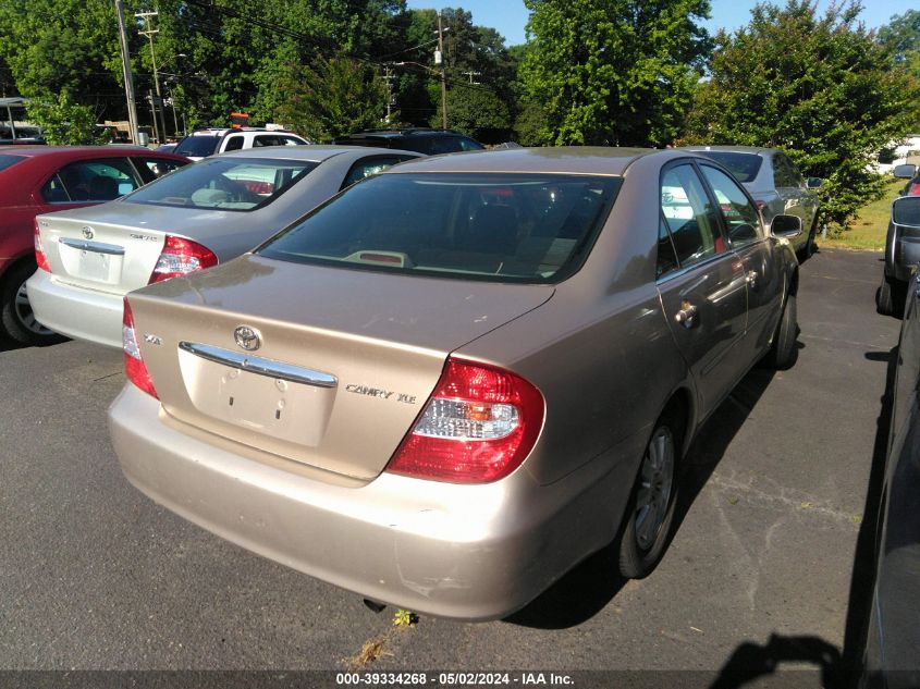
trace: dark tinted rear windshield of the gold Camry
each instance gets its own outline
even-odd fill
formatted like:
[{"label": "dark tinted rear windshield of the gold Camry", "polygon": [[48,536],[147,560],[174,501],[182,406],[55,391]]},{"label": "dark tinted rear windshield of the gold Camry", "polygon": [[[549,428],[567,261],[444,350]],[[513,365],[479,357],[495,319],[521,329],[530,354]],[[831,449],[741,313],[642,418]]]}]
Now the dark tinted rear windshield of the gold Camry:
[{"label": "dark tinted rear windshield of the gold Camry", "polygon": [[493,282],[555,283],[584,261],[618,177],[383,174],[263,245],[269,258]]}]

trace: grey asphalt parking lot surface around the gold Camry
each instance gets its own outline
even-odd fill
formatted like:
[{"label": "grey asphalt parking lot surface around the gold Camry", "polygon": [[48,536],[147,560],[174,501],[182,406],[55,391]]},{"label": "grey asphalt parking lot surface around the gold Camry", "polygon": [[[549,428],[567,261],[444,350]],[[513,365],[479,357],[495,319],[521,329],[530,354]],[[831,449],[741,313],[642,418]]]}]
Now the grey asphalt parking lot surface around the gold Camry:
[{"label": "grey asphalt parking lot surface around the gold Camry", "polygon": [[110,447],[120,352],[0,350],[0,668],[343,670],[378,640],[364,669],[740,670],[714,686],[788,686],[771,684],[780,667],[832,686],[858,657],[899,327],[874,311],[880,256],[802,264],[798,361],[752,371],[710,419],[651,577],[623,582],[600,553],[488,624],[397,629],[391,608],[186,524],[128,485]]}]

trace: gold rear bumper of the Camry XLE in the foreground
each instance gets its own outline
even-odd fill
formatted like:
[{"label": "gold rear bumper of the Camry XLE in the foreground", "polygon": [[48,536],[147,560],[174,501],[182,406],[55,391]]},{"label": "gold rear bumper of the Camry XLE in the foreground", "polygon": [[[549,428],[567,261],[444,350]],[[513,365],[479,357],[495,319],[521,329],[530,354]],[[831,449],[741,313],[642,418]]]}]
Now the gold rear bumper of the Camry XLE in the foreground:
[{"label": "gold rear bumper of the Camry XLE in the foreground", "polygon": [[476,487],[390,473],[334,485],[186,434],[163,415],[131,383],[109,409],[119,462],[140,491],[260,555],[442,617],[495,619],[526,605],[612,539],[631,484],[624,465],[597,476],[594,462],[549,487],[524,470]]}]

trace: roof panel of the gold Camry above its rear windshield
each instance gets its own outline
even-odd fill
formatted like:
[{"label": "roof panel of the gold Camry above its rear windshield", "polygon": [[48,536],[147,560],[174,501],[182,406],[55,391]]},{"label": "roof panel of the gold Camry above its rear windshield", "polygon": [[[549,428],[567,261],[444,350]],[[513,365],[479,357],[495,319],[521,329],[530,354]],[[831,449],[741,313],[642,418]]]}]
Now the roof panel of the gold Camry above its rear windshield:
[{"label": "roof panel of the gold Camry above its rear windshield", "polygon": [[[550,172],[562,174],[622,175],[642,156],[666,153],[648,148],[567,146],[559,148],[511,148],[432,156],[408,161],[381,174],[407,172]],[[676,157],[676,156],[675,156]]]}]

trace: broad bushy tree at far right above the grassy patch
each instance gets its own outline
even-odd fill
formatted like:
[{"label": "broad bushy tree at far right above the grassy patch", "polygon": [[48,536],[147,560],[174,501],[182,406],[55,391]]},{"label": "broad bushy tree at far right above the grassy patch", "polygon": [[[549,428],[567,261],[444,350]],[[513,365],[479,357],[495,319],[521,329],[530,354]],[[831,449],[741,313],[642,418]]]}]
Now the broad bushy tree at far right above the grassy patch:
[{"label": "broad bushy tree at far right above the grassy patch", "polygon": [[880,194],[871,162],[907,132],[917,90],[857,22],[858,2],[823,16],[815,4],[759,4],[747,26],[716,36],[686,142],[786,149],[806,175],[826,180],[823,217],[845,225]]}]

